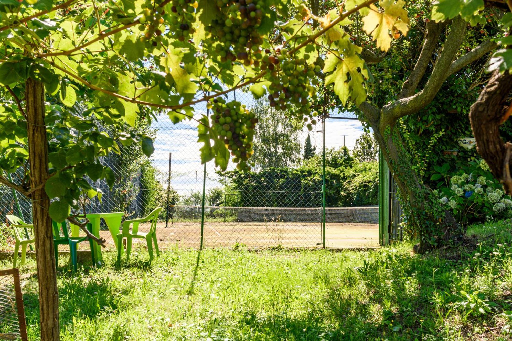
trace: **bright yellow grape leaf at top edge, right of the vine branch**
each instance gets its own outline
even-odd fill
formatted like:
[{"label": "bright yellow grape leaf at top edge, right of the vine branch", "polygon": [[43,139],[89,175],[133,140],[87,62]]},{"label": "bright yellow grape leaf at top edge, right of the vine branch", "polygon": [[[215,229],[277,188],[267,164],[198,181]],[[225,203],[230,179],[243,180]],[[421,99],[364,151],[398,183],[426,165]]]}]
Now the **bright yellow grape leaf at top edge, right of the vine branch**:
[{"label": "bright yellow grape leaf at top edge, right of the vine branch", "polygon": [[400,31],[406,35],[409,31],[409,18],[407,11],[403,9],[405,4],[403,0],[398,0],[396,4],[394,0],[380,0],[379,5],[383,12],[372,4],[368,15],[362,18],[362,29],[372,35],[372,40],[377,41],[377,47],[382,51],[388,51],[391,47],[390,33],[395,36]]}]

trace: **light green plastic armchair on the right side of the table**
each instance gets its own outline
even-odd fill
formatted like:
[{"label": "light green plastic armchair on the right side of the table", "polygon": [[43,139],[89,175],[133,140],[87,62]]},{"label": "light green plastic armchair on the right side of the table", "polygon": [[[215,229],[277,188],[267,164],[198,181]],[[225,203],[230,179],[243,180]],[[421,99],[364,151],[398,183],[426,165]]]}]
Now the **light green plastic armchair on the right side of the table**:
[{"label": "light green plastic armchair on the right side of the table", "polygon": [[[155,244],[155,251],[157,252],[157,257],[160,255],[160,251],[158,250],[157,243],[157,221],[158,215],[163,207],[155,208],[150,214],[148,214],[145,218],[139,219],[130,219],[125,220],[122,227],[122,232],[118,233],[117,237],[117,265],[121,266],[121,252],[123,247],[123,239],[126,238],[126,259],[130,259],[130,252],[132,251],[132,239],[140,238],[145,239],[147,244],[147,251],[150,253],[150,261],[153,260],[153,245],[151,240],[153,239],[153,243]],[[151,221],[150,230],[148,232],[139,232],[139,224]],[[132,226],[132,231],[130,231],[130,226]]]}]

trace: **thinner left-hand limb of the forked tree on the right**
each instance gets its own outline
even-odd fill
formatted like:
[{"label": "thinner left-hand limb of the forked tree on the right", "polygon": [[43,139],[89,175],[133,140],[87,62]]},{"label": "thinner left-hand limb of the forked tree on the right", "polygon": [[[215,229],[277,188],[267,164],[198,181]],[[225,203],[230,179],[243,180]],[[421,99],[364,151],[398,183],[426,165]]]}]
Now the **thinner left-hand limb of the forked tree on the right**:
[{"label": "thinner left-hand limb of the forked tree on the right", "polygon": [[413,71],[409,75],[409,78],[403,83],[402,91],[398,95],[398,98],[406,98],[414,95],[414,91],[418,87],[421,78],[425,74],[426,68],[428,68],[430,64],[432,53],[439,42],[439,35],[446,24],[447,23],[435,23],[434,21],[426,23],[426,34],[423,41],[423,47],[421,48],[421,52]]}]

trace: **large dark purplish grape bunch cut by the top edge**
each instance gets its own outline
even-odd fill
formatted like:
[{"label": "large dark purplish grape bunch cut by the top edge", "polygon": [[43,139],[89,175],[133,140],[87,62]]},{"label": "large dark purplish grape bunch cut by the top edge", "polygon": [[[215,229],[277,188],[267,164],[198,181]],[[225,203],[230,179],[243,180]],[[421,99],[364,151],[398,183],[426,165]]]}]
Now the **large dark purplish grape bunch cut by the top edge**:
[{"label": "large dark purplish grape bunch cut by the top edge", "polygon": [[[240,60],[252,65],[261,55],[263,37],[258,27],[266,9],[263,0],[211,0],[216,1],[222,15],[207,27],[215,51],[221,62]],[[268,10],[268,9],[267,9]]]}]

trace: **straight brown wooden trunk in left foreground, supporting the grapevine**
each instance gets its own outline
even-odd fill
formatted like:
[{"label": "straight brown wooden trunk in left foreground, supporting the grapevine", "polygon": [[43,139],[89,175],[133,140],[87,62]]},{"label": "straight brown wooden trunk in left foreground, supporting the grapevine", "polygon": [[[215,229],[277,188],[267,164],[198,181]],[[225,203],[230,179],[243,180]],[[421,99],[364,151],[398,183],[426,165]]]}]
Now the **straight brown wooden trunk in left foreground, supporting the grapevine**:
[{"label": "straight brown wooden trunk in left foreground, supporting the grapevine", "polygon": [[59,339],[57,274],[53,251],[50,199],[44,183],[48,178],[48,139],[45,125],[45,88],[41,81],[28,78],[25,85],[27,135],[32,192],[41,340]]}]

